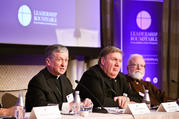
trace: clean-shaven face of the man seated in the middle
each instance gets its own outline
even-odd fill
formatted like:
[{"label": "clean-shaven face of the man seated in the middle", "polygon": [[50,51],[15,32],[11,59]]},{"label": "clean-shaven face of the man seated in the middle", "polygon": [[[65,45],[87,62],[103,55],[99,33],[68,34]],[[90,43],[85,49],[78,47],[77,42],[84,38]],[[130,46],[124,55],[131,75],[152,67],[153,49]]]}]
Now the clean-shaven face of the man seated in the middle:
[{"label": "clean-shaven face of the man seated in the middle", "polygon": [[116,78],[122,63],[122,54],[119,52],[109,53],[101,58],[101,66],[103,71],[110,77]]}]

